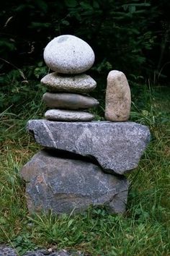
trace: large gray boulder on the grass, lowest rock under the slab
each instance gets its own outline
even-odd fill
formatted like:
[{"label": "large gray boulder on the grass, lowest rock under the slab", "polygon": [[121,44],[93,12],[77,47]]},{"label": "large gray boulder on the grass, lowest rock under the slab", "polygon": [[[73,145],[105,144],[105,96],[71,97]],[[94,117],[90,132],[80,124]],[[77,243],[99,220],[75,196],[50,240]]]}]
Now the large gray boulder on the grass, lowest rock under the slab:
[{"label": "large gray boulder on the grass, lowest rock under the slab", "polygon": [[43,150],[23,166],[21,174],[27,182],[30,213],[78,213],[90,205],[107,205],[111,213],[125,211],[127,179],[104,174],[94,163],[58,158]]}]

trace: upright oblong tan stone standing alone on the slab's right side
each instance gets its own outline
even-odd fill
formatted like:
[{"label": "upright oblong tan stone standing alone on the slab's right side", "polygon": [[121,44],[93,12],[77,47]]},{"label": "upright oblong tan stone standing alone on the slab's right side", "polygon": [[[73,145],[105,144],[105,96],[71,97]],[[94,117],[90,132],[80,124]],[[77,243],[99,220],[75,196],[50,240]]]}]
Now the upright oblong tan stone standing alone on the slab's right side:
[{"label": "upright oblong tan stone standing alone on the slab's right side", "polygon": [[120,71],[112,70],[107,77],[105,119],[127,121],[130,116],[131,96],[128,80]]}]

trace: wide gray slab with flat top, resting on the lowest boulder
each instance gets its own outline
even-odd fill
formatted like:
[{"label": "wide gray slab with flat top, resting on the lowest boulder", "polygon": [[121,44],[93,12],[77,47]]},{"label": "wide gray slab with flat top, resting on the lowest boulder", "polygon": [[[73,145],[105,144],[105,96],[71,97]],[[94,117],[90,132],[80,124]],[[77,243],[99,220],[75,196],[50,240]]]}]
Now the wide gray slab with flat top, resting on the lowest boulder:
[{"label": "wide gray slab with flat top, resting on the lowest boulder", "polygon": [[30,120],[27,129],[45,148],[96,158],[104,171],[125,174],[136,168],[150,140],[148,127],[135,122]]}]

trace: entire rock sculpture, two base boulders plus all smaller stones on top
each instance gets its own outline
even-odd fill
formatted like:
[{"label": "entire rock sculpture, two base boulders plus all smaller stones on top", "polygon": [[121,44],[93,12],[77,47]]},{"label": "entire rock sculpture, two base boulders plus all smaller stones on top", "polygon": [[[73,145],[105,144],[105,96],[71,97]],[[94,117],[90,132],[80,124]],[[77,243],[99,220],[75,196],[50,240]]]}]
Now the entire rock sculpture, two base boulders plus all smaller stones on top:
[{"label": "entire rock sculpture, two base boulders plus all smaller stones on top", "polygon": [[[84,74],[94,64],[91,47],[73,35],[61,35],[45,47],[44,59],[54,72],[41,82],[45,118],[30,120],[28,131],[44,147],[22,167],[27,206],[32,212],[71,213],[89,205],[125,212],[128,180],[150,140],[148,127],[128,121],[130,88],[117,70],[107,77],[105,119],[91,121],[84,110],[99,102],[87,93],[96,82]],[[83,110],[83,111],[82,111]]]}]

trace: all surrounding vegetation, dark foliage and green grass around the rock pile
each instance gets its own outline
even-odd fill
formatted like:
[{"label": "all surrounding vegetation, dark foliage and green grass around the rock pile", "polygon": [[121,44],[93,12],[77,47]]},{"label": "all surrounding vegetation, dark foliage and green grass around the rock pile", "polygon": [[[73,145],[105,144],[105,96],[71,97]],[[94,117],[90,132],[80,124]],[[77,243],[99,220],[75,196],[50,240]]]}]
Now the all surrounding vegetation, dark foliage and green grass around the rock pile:
[{"label": "all surrounding vegetation, dark foliage and green grass around the rock pile", "polygon": [[[170,255],[170,2],[9,0],[0,5],[0,243],[11,244],[18,255],[38,246],[94,256]],[[62,34],[77,35],[94,49],[89,74],[97,80],[96,119],[104,116],[107,74],[118,69],[130,82],[130,120],[151,130],[140,165],[128,175],[124,216],[110,216],[104,208],[60,218],[27,212],[19,171],[40,148],[25,125],[45,113],[40,79],[49,70],[43,48]]]}]

